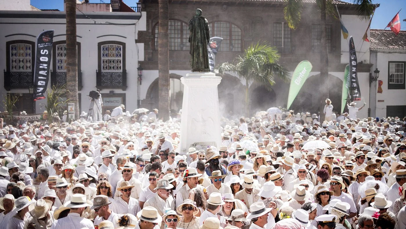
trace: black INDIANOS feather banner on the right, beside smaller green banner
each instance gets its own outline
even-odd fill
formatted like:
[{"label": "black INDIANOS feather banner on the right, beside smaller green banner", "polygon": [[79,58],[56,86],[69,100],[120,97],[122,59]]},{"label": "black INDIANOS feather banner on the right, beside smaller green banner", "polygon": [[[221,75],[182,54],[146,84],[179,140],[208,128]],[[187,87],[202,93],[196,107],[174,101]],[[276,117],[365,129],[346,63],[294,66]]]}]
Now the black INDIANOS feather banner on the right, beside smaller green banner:
[{"label": "black INDIANOS feather banner on the right, beside smaller green banner", "polygon": [[350,84],[350,98],[351,101],[359,101],[361,100],[361,91],[359,89],[359,83],[358,83],[358,76],[357,76],[357,65],[358,62],[356,60],[356,52],[355,52],[355,46],[354,46],[354,40],[352,39],[352,36],[350,37],[350,79],[351,79],[351,84]]}]

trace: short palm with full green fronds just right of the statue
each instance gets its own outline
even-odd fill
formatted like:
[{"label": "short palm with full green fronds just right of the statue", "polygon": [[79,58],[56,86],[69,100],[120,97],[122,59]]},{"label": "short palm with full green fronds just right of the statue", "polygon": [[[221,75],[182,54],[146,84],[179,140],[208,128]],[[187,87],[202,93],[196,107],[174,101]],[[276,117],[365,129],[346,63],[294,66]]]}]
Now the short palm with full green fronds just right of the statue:
[{"label": "short palm with full green fronds just right of the statue", "polygon": [[249,85],[257,82],[271,90],[275,84],[275,76],[288,82],[289,71],[279,63],[276,63],[281,56],[276,47],[266,43],[251,44],[244,55],[235,58],[234,63],[222,63],[218,72],[232,72],[237,74],[241,80],[245,80],[245,114],[249,117]]}]

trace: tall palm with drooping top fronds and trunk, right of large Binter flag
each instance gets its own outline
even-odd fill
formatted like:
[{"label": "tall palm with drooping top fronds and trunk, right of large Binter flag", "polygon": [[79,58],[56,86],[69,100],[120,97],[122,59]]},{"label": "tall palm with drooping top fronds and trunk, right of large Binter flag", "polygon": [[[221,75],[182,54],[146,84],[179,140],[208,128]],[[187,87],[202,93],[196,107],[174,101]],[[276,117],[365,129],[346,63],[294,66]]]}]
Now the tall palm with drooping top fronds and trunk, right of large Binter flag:
[{"label": "tall palm with drooping top fronds and trunk, right of large Binter flag", "polygon": [[[369,20],[371,14],[374,12],[374,5],[372,0],[352,0],[356,5],[356,13],[361,19]],[[328,53],[327,53],[327,39],[326,39],[326,16],[335,17],[337,11],[333,5],[333,0],[316,0],[317,6],[320,7],[320,22],[322,26],[321,34],[321,50],[320,50],[320,85],[315,85],[315,88],[320,89],[320,120],[324,120],[324,100],[329,97],[328,85]],[[303,9],[303,0],[285,0],[285,20],[289,28],[296,29],[300,23],[301,13]]]}]

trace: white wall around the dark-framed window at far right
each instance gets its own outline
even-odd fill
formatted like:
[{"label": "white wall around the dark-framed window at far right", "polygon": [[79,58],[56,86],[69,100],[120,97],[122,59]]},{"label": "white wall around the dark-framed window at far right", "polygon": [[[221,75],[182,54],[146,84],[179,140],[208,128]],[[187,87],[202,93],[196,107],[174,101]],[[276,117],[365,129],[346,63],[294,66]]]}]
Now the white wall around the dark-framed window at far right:
[{"label": "white wall around the dark-framed window at far right", "polygon": [[[406,61],[406,53],[378,52],[376,60],[372,69],[380,70],[378,81],[381,80],[383,83],[382,93],[376,91],[371,93],[376,93],[376,117],[386,117],[387,106],[406,105],[406,89],[388,89],[388,61]],[[384,100],[384,102],[378,102],[378,100]]]}]

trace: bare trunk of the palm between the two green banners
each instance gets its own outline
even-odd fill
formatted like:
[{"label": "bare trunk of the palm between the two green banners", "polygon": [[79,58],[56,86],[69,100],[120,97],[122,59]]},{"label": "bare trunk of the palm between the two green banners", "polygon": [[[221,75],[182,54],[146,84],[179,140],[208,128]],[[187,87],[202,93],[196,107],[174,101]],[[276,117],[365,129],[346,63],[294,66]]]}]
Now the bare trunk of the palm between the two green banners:
[{"label": "bare trunk of the palm between the two green banners", "polygon": [[324,105],[326,98],[329,97],[330,85],[328,83],[328,50],[326,38],[326,0],[322,1],[321,6],[321,22],[322,22],[322,37],[321,37],[321,50],[320,50],[320,121],[323,122]]}]

